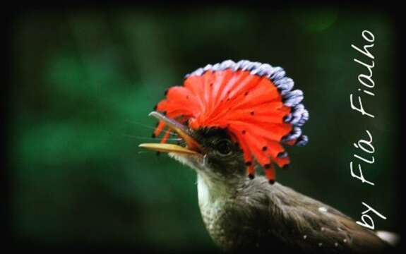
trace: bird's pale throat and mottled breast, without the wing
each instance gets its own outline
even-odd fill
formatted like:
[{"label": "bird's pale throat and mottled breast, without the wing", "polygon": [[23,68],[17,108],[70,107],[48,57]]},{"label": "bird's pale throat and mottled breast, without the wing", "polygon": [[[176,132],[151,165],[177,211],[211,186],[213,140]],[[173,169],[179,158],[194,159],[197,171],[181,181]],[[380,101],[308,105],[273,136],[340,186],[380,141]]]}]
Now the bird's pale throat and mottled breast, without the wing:
[{"label": "bird's pale throat and mottled breast, without the wing", "polygon": [[[263,225],[267,225],[267,231],[259,230],[261,234],[268,234],[268,229],[273,229],[270,220],[276,208],[268,200],[269,183],[265,178],[263,181],[247,179],[242,183],[224,183],[198,174],[197,185],[203,222],[210,236],[222,249],[249,246],[251,241],[257,241],[257,229],[264,229]],[[249,236],[246,236],[247,232]]]}]

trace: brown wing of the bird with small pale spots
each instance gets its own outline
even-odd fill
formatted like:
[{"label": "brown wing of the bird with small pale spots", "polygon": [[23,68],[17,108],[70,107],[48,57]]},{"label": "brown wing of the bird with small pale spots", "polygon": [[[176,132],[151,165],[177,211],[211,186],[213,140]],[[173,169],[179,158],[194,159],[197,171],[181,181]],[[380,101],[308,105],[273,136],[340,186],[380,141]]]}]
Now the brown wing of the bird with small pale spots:
[{"label": "brown wing of the bird with small pale spots", "polygon": [[280,184],[269,189],[270,199],[277,204],[285,224],[296,229],[292,244],[300,248],[321,253],[374,253],[388,247],[374,231],[333,207]]}]

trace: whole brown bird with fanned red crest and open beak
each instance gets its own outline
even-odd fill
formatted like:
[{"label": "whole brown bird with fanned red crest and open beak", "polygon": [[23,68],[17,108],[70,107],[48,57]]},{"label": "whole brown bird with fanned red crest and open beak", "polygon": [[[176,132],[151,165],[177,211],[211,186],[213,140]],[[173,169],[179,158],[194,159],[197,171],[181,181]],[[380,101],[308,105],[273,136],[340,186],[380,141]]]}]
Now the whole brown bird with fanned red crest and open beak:
[{"label": "whole brown bird with fanned red crest and open beak", "polygon": [[[169,87],[150,116],[159,143],[139,146],[191,167],[205,228],[226,253],[381,253],[399,236],[374,231],[275,181],[286,145],[304,146],[304,92],[281,67],[226,60]],[[170,135],[181,141],[169,143]],[[263,171],[263,174],[257,174]]]}]

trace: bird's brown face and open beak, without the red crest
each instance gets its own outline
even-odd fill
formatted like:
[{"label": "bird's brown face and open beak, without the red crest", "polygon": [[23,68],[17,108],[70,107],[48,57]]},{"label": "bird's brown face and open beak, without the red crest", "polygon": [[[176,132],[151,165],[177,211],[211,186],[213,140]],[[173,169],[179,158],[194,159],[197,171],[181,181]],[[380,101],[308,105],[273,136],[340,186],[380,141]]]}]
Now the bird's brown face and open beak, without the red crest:
[{"label": "bird's brown face and open beak, without the red crest", "polygon": [[246,179],[243,152],[226,129],[203,127],[193,130],[157,111],[151,112],[150,116],[155,116],[170,126],[169,128],[181,138],[181,142],[143,143],[141,147],[168,152],[170,157],[212,181],[232,183]]}]

